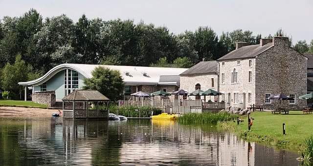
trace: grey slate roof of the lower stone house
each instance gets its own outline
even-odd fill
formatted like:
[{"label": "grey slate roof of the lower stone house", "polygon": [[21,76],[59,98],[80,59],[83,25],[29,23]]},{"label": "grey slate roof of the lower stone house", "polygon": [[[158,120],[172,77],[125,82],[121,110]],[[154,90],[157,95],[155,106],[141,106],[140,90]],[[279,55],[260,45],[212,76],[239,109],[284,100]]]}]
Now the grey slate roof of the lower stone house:
[{"label": "grey slate roof of the lower stone house", "polygon": [[196,65],[192,66],[188,70],[182,72],[182,75],[193,75],[193,74],[209,74],[209,73],[216,73],[217,72],[217,64],[216,61],[204,61],[199,62]]}]

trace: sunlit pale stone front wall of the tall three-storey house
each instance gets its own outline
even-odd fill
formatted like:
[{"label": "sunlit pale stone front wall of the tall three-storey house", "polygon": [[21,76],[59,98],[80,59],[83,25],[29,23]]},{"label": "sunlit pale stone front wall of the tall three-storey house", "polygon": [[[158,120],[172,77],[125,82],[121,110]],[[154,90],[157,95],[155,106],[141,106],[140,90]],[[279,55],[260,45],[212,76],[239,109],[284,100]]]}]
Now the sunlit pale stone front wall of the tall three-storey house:
[{"label": "sunlit pale stone front wall of the tall three-storey house", "polygon": [[[237,61],[240,61],[238,64]],[[249,61],[251,65],[249,66]],[[224,63],[224,65],[222,65]],[[255,58],[225,60],[219,62],[220,69],[220,92],[224,93],[227,106],[236,106],[245,108],[255,103]],[[237,83],[231,82],[231,73],[237,72]],[[249,82],[249,71],[251,71],[251,82]],[[222,74],[224,73],[224,83]],[[238,93],[238,102],[234,101],[234,93]],[[248,94],[251,93],[251,102],[249,103]],[[220,101],[222,97],[220,97]]]}]

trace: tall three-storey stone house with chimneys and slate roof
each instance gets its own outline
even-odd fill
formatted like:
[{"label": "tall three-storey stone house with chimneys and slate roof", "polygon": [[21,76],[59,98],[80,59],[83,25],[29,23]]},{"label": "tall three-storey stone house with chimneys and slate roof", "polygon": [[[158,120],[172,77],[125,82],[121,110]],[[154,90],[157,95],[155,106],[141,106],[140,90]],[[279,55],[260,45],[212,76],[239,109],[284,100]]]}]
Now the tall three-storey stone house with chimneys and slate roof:
[{"label": "tall three-storey stone house with chimneys and slate roof", "polygon": [[226,105],[247,107],[263,105],[278,107],[278,101],[268,100],[275,93],[294,98],[283,101],[288,109],[301,109],[305,101],[298,97],[307,93],[307,61],[303,54],[289,46],[286,37],[261,39],[260,44],[236,44],[236,49],[218,62],[219,90]]}]

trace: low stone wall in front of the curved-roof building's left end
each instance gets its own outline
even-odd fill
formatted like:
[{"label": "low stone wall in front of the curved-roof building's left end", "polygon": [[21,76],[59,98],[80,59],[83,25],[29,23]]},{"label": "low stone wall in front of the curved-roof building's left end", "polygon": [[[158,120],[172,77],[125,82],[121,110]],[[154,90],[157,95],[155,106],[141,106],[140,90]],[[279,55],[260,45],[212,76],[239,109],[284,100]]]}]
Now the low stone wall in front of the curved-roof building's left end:
[{"label": "low stone wall in front of the curved-roof building's left end", "polygon": [[47,104],[51,107],[55,104],[55,91],[34,92],[31,100],[34,103]]}]

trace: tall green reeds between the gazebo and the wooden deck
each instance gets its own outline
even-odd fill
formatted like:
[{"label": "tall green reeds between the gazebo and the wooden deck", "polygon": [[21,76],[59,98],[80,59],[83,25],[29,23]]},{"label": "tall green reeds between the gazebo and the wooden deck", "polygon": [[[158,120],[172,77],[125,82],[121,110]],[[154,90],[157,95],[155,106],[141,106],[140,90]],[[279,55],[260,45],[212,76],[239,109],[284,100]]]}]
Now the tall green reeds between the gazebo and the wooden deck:
[{"label": "tall green reeds between the gazebo and the wooden deck", "polygon": [[162,113],[162,110],[149,107],[149,106],[110,106],[110,113],[118,114],[126,117],[133,117],[133,118],[149,118],[152,115],[158,115]]}]

